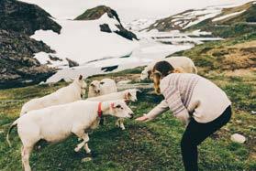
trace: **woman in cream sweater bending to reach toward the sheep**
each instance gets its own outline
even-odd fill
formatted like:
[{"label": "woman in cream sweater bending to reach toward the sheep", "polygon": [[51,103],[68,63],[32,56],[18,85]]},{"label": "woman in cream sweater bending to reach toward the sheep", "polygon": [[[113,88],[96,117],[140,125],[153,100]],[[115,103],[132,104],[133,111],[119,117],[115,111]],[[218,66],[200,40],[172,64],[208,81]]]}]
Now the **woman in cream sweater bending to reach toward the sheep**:
[{"label": "woman in cream sweater bending to reach toward the sheep", "polygon": [[173,66],[161,61],[153,68],[154,88],[164,100],[139,118],[147,122],[170,109],[185,123],[181,149],[186,171],[196,171],[197,145],[224,126],[231,117],[231,102],[213,82],[195,74],[175,73]]}]

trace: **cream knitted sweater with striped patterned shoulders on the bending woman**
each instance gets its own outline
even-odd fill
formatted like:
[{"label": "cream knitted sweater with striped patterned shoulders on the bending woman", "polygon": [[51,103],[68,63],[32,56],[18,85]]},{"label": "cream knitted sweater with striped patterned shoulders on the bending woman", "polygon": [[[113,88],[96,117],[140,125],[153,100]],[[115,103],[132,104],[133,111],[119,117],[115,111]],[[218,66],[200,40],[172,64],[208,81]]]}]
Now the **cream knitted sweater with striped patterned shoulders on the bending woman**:
[{"label": "cream knitted sweater with striped patterned shoulders on the bending woman", "polygon": [[217,85],[195,74],[170,74],[161,80],[160,88],[165,100],[147,114],[151,119],[170,109],[184,123],[188,123],[190,117],[199,123],[208,123],[231,103]]}]

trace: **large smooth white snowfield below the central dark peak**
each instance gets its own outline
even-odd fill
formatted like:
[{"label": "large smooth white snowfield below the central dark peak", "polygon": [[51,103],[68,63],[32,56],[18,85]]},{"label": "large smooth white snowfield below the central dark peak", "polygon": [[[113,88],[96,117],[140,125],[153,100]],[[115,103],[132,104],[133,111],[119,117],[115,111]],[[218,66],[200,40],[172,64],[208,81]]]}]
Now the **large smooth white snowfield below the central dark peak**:
[{"label": "large smooth white snowfield below the central dark peak", "polygon": [[[50,48],[56,50],[55,56],[63,59],[63,64],[67,63],[66,58],[83,64],[95,59],[122,57],[139,46],[137,41],[100,31],[99,25],[104,23],[112,29],[116,27],[117,20],[107,15],[92,21],[56,21],[62,27],[60,35],[52,31],[39,30],[32,37],[44,41]],[[60,61],[58,63],[61,64]]]}]

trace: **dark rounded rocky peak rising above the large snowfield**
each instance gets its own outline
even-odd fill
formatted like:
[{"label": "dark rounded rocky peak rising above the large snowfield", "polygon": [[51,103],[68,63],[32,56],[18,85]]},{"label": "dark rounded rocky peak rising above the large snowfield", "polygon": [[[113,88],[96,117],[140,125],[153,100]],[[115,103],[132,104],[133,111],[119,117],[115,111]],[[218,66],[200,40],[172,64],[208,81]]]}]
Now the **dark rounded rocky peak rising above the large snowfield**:
[{"label": "dark rounded rocky peak rising above the large snowfield", "polygon": [[104,15],[107,15],[110,18],[113,18],[117,20],[117,24],[115,26],[110,27],[107,23],[101,24],[99,27],[101,31],[106,33],[117,33],[121,37],[128,38],[129,40],[137,39],[138,37],[132,33],[131,31],[128,31],[125,27],[123,27],[121,20],[119,16],[117,15],[117,11],[114,9],[111,9],[110,7],[106,5],[98,5],[94,8],[87,9],[82,15],[77,16],[74,18],[74,20],[96,20],[101,18]]}]

